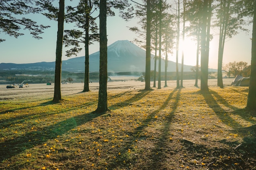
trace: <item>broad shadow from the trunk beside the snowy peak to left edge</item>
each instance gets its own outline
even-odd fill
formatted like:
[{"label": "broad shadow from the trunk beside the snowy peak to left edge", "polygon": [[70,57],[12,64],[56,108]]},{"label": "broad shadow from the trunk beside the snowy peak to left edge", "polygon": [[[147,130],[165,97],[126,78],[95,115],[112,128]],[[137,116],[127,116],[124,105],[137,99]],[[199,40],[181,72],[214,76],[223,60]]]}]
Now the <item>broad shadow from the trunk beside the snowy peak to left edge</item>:
[{"label": "broad shadow from the trunk beside the snowy peak to left edge", "polygon": [[32,132],[28,132],[25,135],[18,136],[14,139],[8,139],[1,142],[0,161],[9,159],[12,156],[33,148],[36,145],[41,145],[49,139],[55,139],[58,135],[63,135],[76,126],[85,124],[86,122],[101,115],[102,114],[95,113],[78,115],[45,128],[33,130]]}]

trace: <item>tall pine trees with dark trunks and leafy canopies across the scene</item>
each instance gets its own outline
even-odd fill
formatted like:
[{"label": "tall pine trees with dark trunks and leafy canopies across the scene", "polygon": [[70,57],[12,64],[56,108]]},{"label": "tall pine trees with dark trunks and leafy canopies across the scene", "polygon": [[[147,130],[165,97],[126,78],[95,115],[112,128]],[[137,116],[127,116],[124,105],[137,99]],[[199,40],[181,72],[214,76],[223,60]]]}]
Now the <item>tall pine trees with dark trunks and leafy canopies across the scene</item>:
[{"label": "tall pine trees with dark trunks and leafy canopies across the scene", "polygon": [[[36,22],[23,18],[18,20],[13,17],[13,14],[27,14],[27,13],[43,13],[50,19],[58,20],[58,33],[56,44],[56,66],[55,66],[55,85],[54,85],[54,102],[61,100],[61,57],[62,46],[64,36],[64,20],[67,22],[73,22],[78,26],[79,30],[65,31],[66,35],[64,42],[66,46],[74,46],[67,51],[67,55],[75,55],[81,50],[79,43],[85,44],[85,87],[84,91],[89,91],[89,85],[87,87],[87,81],[89,81],[87,73],[89,73],[89,44],[93,41],[99,40],[100,44],[100,86],[99,86],[99,102],[97,112],[106,112],[107,106],[107,33],[106,33],[106,19],[107,15],[115,15],[111,11],[111,7],[124,10],[128,9],[128,12],[122,12],[121,16],[126,20],[130,20],[134,17],[140,18],[139,24],[141,28],[131,27],[131,30],[135,30],[140,33],[143,38],[140,40],[144,44],[146,49],[146,72],[145,72],[145,90],[150,90],[150,54],[153,44],[155,44],[155,70],[156,60],[159,62],[158,77],[161,77],[161,60],[162,51],[165,51],[165,58],[167,61],[168,53],[170,53],[173,47],[176,48],[176,60],[178,61],[179,41],[180,41],[180,19],[183,19],[183,32],[182,39],[184,40],[185,33],[193,36],[198,44],[197,49],[197,73],[198,73],[198,59],[199,54],[201,57],[201,90],[208,91],[208,64],[209,64],[209,42],[212,38],[210,34],[211,26],[217,26],[220,30],[219,38],[219,53],[218,53],[218,86],[223,88],[222,83],[222,58],[226,38],[231,38],[236,35],[239,30],[245,30],[243,24],[244,17],[255,16],[256,5],[255,0],[183,0],[183,11],[180,9],[180,0],[178,0],[175,8],[175,4],[168,4],[166,0],[141,0],[135,3],[135,8],[128,3],[128,0],[81,0],[76,7],[67,7],[67,13],[65,14],[64,0],[59,0],[59,7],[52,5],[53,0],[26,0],[26,1],[14,1],[5,0],[0,2],[0,29],[9,35],[18,37],[21,35],[18,33],[20,25],[29,29],[31,34],[35,38],[40,38],[38,35],[42,33],[42,30],[47,26],[37,25]],[[33,4],[29,6],[28,4]],[[36,7],[35,7],[36,6]],[[93,9],[95,7],[95,9]],[[97,24],[95,24],[95,18],[92,17],[92,12],[99,9],[99,34],[97,33]],[[175,12],[173,12],[175,9]],[[215,13],[215,15],[213,15]],[[7,19],[8,18],[8,19]],[[213,23],[212,24],[212,19]],[[253,20],[256,22],[256,19]],[[186,26],[185,23],[189,23]],[[254,24],[255,27],[255,24]],[[185,32],[186,31],[186,32]],[[89,35],[89,32],[91,33]],[[252,46],[254,46],[255,29],[253,28]],[[152,38],[151,38],[152,37]],[[146,40],[146,42],[144,41]],[[1,39],[1,41],[4,41]],[[157,57],[158,51],[158,57]],[[251,101],[256,101],[256,86],[255,78],[252,74],[255,72],[255,56],[254,49],[252,48],[252,64],[251,64],[251,80],[250,90],[248,96],[247,107],[255,107],[255,104],[251,104]],[[182,64],[183,64],[182,54]],[[176,61],[176,64],[178,63]],[[166,62],[167,63],[167,62]],[[167,68],[167,64],[165,64]],[[183,66],[182,66],[183,68]],[[181,80],[177,70],[177,88],[182,87],[182,74]],[[181,69],[181,73],[183,69]],[[221,74],[221,75],[220,75]],[[198,76],[196,76],[198,77]],[[154,81],[155,82],[155,81]],[[158,79],[158,88],[161,88],[161,79]],[[155,83],[154,83],[155,85]],[[195,84],[197,85],[197,84]],[[167,84],[166,84],[167,86]],[[253,95],[251,95],[253,93]],[[252,100],[251,97],[254,97]]]}]

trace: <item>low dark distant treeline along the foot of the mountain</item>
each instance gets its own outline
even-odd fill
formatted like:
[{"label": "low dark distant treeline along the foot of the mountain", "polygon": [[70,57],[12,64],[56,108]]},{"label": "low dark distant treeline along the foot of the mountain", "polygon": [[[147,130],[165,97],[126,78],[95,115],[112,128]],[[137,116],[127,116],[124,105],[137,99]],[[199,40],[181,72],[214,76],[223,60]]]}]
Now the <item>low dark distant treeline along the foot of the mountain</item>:
[{"label": "low dark distant treeline along the foot of the mountain", "polygon": [[[144,77],[141,72],[118,72],[108,73],[113,75],[137,75]],[[157,73],[158,75],[158,73]],[[184,72],[184,79],[195,79],[194,72]],[[67,79],[72,78],[73,83],[84,82],[84,73],[71,73],[62,71],[62,82],[68,82]],[[157,77],[158,79],[158,77]],[[164,73],[161,74],[161,79],[164,80]],[[168,72],[167,80],[175,80],[176,72]],[[153,71],[151,72],[151,81],[153,81]],[[90,82],[99,82],[99,73],[90,73]],[[0,84],[40,84],[40,83],[54,83],[54,71],[0,71]]]}]

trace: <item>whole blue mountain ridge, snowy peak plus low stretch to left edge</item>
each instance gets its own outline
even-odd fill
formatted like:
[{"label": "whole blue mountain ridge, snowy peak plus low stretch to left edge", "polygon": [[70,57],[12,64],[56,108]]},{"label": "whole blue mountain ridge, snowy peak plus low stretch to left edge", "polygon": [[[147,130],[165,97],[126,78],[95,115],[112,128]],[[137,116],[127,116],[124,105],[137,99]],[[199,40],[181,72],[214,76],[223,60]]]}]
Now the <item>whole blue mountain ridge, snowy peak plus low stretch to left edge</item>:
[{"label": "whole blue mountain ridge, snowy peak plus low stretch to left edge", "polygon": [[[75,57],[62,61],[62,70],[84,72],[85,57]],[[162,59],[161,71],[164,71]],[[181,64],[179,64],[179,67]],[[108,46],[108,72],[145,72],[146,51],[128,40],[119,40]],[[192,66],[184,65],[184,71]],[[55,62],[29,64],[0,63],[0,70],[47,70],[55,69]],[[154,55],[151,54],[151,70],[154,70]],[[99,51],[89,56],[89,71],[99,72]],[[157,63],[158,71],[158,63]],[[168,72],[176,71],[175,62],[168,61]]]}]

